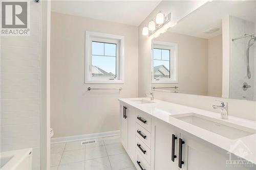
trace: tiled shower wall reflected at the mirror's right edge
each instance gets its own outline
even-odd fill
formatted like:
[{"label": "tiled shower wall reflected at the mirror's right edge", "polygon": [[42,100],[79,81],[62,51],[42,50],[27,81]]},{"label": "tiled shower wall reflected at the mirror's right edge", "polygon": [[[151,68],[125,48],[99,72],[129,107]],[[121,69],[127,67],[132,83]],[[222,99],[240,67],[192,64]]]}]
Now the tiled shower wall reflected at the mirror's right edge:
[{"label": "tiled shower wall reflected at the mirror's right edge", "polygon": [[[230,16],[230,36],[240,37],[244,34],[254,32],[254,22],[238,17]],[[250,48],[250,69],[251,79],[247,78],[246,48],[250,37],[241,38],[236,41],[230,40],[230,87],[229,98],[253,100],[254,94],[254,48]],[[243,90],[243,83],[251,85],[246,91]]]}]

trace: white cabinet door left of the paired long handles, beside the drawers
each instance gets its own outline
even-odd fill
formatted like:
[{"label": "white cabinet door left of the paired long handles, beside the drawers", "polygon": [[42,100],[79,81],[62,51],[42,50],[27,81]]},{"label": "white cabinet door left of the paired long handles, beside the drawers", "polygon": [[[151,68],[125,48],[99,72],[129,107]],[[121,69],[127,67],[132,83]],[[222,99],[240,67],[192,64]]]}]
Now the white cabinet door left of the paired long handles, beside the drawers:
[{"label": "white cabinet door left of the paired long handles, beside the drawers", "polygon": [[[154,169],[155,167],[155,170],[178,170],[179,167],[177,146],[178,139],[180,137],[179,132],[176,131],[173,126],[167,125],[166,123],[160,122],[160,120],[153,118],[151,137],[151,158],[152,160],[154,160],[154,163],[151,164],[151,169]],[[174,161],[172,160],[172,155]]]}]

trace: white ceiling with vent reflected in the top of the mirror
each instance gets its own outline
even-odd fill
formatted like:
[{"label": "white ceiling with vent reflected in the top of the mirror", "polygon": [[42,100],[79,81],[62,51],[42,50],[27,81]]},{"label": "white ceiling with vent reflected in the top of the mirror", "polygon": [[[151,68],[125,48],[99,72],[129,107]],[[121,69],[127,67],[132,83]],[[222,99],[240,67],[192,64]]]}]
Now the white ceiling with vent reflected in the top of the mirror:
[{"label": "white ceiling with vent reflected in the top of the mirror", "polygon": [[[222,34],[222,18],[227,15],[256,22],[256,1],[208,2],[184,17],[168,31],[209,39]],[[212,34],[203,33],[210,28],[220,30]]]}]

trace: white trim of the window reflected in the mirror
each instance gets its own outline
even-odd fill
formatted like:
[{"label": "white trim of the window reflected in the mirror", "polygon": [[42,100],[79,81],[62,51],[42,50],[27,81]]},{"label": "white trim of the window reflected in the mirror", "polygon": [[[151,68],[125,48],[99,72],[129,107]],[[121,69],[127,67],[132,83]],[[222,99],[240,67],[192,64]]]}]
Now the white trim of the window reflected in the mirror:
[{"label": "white trim of the window reflected in the mirror", "polygon": [[[154,79],[154,66],[153,66],[153,50],[154,48],[163,48],[163,49],[167,49],[170,50],[170,52],[172,53],[171,56],[173,56],[173,60],[174,60],[174,76],[175,79],[160,79],[160,80],[155,80]],[[165,41],[152,41],[152,59],[151,59],[151,71],[152,71],[152,84],[164,84],[164,83],[179,83],[178,81],[178,44],[174,43],[174,42],[165,42]],[[171,60],[170,60],[170,66],[172,65]]]}]

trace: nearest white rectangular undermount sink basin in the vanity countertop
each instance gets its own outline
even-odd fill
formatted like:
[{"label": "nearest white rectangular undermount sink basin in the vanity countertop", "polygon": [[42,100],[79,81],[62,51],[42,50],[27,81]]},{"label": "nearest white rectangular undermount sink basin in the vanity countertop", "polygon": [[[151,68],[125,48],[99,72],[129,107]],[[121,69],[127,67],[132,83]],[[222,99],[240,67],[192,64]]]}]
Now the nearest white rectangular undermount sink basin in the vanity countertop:
[{"label": "nearest white rectangular undermount sink basin in the vanity countertop", "polygon": [[196,113],[185,113],[171,116],[229,139],[237,139],[256,133],[256,130],[254,129],[224,122],[220,119],[203,116]]}]

